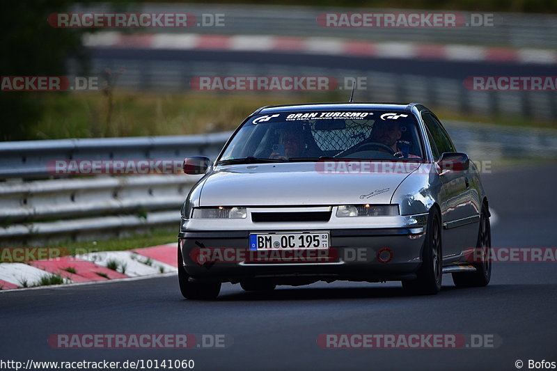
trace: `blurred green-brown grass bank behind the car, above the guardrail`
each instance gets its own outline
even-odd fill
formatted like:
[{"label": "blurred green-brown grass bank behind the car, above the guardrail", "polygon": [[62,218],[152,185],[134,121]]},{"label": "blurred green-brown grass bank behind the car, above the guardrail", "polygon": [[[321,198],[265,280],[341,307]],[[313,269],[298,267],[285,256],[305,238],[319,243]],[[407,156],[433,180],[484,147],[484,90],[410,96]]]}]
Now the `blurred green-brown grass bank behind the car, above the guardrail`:
[{"label": "blurred green-brown grass bank behind the car, above the guardrail", "polygon": [[[329,93],[136,93],[116,90],[110,119],[109,101],[100,93],[45,95],[43,117],[28,129],[28,139],[99,138],[201,134],[232,130],[260,106],[343,102],[343,92]],[[555,123],[519,117],[470,115],[436,109],[441,120],[499,125],[551,127]]]}]

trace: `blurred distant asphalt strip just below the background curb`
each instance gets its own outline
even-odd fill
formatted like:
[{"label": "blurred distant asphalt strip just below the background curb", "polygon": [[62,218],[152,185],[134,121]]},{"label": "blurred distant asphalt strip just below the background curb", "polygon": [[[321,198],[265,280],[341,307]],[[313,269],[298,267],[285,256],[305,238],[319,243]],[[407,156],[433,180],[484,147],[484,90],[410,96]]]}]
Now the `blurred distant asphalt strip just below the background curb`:
[{"label": "blurred distant asphalt strip just below the background curb", "polygon": [[523,64],[486,61],[448,61],[403,58],[372,58],[359,56],[335,56],[318,54],[291,54],[276,52],[230,52],[205,50],[167,49],[88,49],[91,58],[117,61],[182,61],[209,63],[247,63],[284,65],[285,67],[331,68],[413,74],[425,77],[464,79],[468,76],[484,75],[554,75],[556,65]]}]

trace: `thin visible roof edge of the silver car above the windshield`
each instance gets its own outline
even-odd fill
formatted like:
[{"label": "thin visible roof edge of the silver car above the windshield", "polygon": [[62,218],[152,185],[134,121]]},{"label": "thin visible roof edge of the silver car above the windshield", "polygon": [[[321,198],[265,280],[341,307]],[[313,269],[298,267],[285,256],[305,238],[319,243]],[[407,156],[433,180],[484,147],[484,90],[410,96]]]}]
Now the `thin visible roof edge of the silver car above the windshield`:
[{"label": "thin visible roof edge of the silver car above the windshield", "polygon": [[322,110],[349,110],[349,109],[384,109],[389,111],[411,111],[416,106],[419,111],[429,111],[423,104],[418,103],[308,103],[308,104],[284,104],[280,106],[264,106],[255,111],[258,113],[288,112],[288,111],[322,111]]}]

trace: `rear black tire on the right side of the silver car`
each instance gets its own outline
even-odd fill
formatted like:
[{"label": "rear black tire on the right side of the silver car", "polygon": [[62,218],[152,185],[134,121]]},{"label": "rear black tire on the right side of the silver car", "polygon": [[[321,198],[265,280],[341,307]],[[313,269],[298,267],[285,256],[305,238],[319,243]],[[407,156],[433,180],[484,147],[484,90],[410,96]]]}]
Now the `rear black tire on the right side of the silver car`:
[{"label": "rear black tire on the right side of the silver car", "polygon": [[492,276],[492,262],[489,259],[492,247],[492,230],[489,224],[489,211],[482,205],[480,214],[480,228],[476,248],[482,249],[482,262],[473,263],[476,271],[453,273],[453,282],[457,287],[484,287],[487,286]]}]

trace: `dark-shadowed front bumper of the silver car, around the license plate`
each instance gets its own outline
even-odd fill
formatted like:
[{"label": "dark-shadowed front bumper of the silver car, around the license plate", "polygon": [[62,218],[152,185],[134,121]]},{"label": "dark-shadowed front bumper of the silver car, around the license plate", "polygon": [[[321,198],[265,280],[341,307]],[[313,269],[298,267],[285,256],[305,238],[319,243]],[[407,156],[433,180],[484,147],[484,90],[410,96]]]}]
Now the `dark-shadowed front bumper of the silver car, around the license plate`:
[{"label": "dark-shadowed front bumper of the silver car, around the license plate", "polygon": [[327,251],[297,258],[288,255],[292,259],[275,255],[278,261],[269,255],[261,259],[258,253],[250,252],[250,233],[308,232],[307,228],[183,230],[178,246],[184,268],[194,280],[237,283],[265,278],[289,285],[336,280],[400,281],[415,278],[421,266],[423,220],[420,226],[402,228],[327,229],[331,246]]}]

